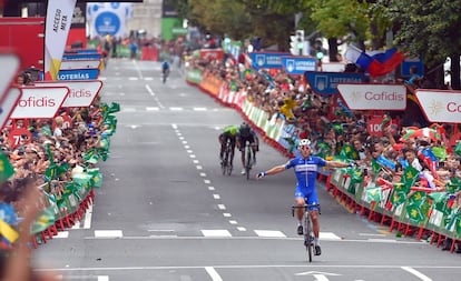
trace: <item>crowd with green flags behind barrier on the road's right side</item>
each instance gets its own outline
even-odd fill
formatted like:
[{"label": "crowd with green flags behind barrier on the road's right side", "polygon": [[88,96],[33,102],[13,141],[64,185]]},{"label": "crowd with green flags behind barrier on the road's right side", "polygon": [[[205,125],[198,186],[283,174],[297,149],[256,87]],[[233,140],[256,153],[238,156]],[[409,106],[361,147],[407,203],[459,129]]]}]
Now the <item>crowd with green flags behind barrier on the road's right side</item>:
[{"label": "crowd with green flags behind barrier on the road's right side", "polygon": [[[320,171],[331,194],[352,211],[398,235],[461,252],[458,128],[428,124],[412,113],[381,112],[383,136],[371,136],[366,126],[373,112],[352,112],[337,96],[315,94],[303,77],[256,71],[235,60],[190,57],[187,66],[188,83],[238,110],[286,157],[297,153],[298,139],[310,138],[315,154],[354,162],[355,168]],[[410,92],[420,87],[409,86]]]}]

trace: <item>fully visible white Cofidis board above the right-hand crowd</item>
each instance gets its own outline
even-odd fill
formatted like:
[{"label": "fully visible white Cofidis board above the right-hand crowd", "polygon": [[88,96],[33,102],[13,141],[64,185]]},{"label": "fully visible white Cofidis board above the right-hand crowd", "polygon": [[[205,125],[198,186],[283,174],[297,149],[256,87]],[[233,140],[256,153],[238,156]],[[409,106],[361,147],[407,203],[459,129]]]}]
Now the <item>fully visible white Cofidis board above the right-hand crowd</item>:
[{"label": "fully visible white Cofidis board above the right-hand crowd", "polygon": [[341,83],[337,90],[352,110],[404,110],[406,108],[406,88],[403,84]]}]

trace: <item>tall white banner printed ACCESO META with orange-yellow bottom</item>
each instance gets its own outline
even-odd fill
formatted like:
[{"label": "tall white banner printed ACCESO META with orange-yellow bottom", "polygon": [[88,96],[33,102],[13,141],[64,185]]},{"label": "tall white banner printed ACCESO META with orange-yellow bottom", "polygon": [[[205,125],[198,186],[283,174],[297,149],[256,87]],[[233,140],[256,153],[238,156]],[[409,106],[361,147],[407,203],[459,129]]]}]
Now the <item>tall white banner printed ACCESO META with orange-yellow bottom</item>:
[{"label": "tall white banner printed ACCESO META with orange-yellow bottom", "polygon": [[56,80],[77,0],[48,0],[45,30],[45,79]]}]

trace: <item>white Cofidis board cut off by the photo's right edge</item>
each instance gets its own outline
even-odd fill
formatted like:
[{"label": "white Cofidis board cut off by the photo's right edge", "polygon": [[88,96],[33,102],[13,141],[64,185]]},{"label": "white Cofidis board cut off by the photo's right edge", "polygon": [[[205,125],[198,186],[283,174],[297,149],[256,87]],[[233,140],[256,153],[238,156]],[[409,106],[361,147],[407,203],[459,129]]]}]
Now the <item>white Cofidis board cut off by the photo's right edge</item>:
[{"label": "white Cofidis board cut off by the photo's right edge", "polygon": [[461,123],[461,91],[416,90],[415,96],[430,122]]}]

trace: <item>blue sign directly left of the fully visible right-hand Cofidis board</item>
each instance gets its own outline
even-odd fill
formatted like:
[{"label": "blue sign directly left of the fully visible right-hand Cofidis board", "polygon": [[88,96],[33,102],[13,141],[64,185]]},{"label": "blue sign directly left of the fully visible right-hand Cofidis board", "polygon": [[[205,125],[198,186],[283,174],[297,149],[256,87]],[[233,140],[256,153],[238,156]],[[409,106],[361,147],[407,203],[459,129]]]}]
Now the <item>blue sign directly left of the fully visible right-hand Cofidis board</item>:
[{"label": "blue sign directly left of the fully visible right-hand Cofidis board", "polygon": [[360,73],[305,72],[305,78],[317,94],[337,94],[339,83],[362,83],[365,77]]}]

